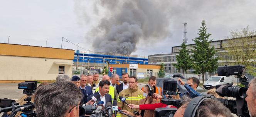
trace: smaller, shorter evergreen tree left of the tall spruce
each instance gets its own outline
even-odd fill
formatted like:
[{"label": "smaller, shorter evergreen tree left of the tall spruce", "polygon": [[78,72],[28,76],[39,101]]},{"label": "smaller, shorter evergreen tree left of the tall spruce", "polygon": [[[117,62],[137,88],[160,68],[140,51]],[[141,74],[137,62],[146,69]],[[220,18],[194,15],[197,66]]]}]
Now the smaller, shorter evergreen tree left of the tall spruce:
[{"label": "smaller, shorter evergreen tree left of the tall spruce", "polygon": [[175,68],[178,69],[180,72],[180,69],[182,69],[182,75],[184,76],[184,71],[187,73],[187,70],[189,70],[192,65],[192,61],[189,56],[189,50],[186,49],[187,45],[185,42],[182,42],[181,49],[179,52],[179,55],[176,55],[177,64],[173,64]]}]

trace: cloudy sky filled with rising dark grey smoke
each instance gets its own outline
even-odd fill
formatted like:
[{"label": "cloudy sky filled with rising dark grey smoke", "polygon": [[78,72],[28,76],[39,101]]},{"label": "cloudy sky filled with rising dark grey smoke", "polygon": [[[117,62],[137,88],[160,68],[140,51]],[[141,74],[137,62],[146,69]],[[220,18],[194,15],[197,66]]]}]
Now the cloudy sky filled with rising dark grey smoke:
[{"label": "cloudy sky filled with rising dark grey smoke", "polygon": [[[1,0],[0,42],[10,36],[10,44],[61,48],[65,37],[79,50],[122,53],[127,45],[140,57],[168,54],[181,45],[184,22],[188,44],[202,20],[213,40],[256,29],[255,6],[254,0]],[[62,48],[76,50],[71,42]]]}]

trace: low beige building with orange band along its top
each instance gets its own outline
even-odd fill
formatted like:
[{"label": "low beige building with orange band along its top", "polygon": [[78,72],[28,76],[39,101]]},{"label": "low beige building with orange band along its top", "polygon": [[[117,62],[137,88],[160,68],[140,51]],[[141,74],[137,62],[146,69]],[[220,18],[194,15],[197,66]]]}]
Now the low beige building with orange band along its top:
[{"label": "low beige building with orange band along its top", "polygon": [[74,50],[0,43],[0,83],[72,76]]}]

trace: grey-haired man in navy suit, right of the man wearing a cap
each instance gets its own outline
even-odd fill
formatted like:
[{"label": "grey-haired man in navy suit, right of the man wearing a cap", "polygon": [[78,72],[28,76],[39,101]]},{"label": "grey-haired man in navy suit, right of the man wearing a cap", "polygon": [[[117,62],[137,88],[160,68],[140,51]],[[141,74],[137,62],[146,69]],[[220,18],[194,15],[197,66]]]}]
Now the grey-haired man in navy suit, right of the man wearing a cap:
[{"label": "grey-haired man in navy suit, right of the man wearing a cap", "polygon": [[88,96],[93,94],[93,90],[90,86],[87,86],[87,76],[82,74],[80,75],[80,86],[79,89],[81,89],[81,92],[83,93],[83,99],[82,102],[86,103],[88,102]]}]

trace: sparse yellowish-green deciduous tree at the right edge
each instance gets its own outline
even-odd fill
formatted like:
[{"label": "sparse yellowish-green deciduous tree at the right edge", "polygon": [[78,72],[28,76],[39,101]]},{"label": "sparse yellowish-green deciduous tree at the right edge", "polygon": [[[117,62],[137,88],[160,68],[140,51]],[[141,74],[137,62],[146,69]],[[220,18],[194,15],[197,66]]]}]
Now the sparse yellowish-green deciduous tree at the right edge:
[{"label": "sparse yellowish-green deciduous tree at the right edge", "polygon": [[248,72],[254,73],[255,68],[251,64],[256,63],[256,31],[249,31],[249,26],[241,31],[229,31],[231,37],[223,44],[231,60],[227,62],[234,65],[244,65]]}]

